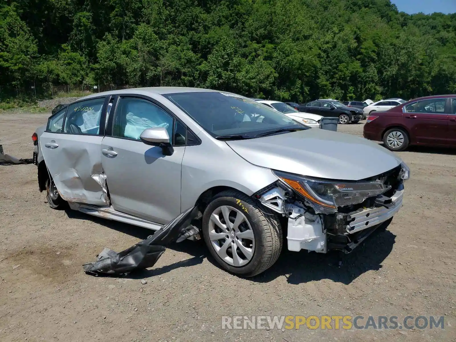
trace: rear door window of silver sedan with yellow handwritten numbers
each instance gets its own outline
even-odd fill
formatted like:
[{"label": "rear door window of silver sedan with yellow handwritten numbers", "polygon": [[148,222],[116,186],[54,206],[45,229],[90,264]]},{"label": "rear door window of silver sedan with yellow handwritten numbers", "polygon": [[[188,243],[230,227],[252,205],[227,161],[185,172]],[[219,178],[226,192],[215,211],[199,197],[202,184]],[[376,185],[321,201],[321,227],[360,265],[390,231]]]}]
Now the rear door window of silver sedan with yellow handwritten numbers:
[{"label": "rear door window of silver sedan with yellow handwritten numbers", "polygon": [[70,104],[64,133],[98,135],[104,98],[94,98]]}]

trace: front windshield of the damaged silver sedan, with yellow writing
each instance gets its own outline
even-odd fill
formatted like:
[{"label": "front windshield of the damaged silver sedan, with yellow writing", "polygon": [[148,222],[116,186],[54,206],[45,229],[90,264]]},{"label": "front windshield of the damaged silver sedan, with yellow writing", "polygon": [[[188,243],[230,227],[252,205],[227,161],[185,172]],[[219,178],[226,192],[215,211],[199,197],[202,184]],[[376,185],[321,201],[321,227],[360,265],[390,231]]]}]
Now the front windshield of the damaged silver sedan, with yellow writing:
[{"label": "front windshield of the damaged silver sedan, with yellow writing", "polygon": [[164,94],[214,137],[243,135],[280,129],[306,129],[264,104],[239,95],[222,92],[189,92]]}]

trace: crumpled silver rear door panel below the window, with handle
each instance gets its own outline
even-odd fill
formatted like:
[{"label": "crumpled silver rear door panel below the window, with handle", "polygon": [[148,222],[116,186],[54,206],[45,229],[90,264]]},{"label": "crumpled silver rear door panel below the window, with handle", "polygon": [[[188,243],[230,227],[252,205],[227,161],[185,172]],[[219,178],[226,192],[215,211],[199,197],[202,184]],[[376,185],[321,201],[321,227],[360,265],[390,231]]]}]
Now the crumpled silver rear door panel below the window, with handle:
[{"label": "crumpled silver rear door panel below the window, with handle", "polygon": [[41,151],[60,196],[68,202],[109,205],[100,135],[44,132]]}]

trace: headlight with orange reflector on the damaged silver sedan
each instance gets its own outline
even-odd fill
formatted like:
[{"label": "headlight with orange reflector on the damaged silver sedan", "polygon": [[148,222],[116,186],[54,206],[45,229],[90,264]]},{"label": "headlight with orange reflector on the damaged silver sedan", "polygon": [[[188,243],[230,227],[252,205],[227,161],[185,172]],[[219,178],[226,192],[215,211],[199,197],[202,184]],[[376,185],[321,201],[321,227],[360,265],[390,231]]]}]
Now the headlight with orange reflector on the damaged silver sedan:
[{"label": "headlight with orange reflector on the damaged silver sedan", "polygon": [[337,212],[337,207],[362,203],[368,197],[385,192],[380,181],[340,182],[296,176],[281,171],[274,173],[288,187],[306,198],[309,202],[307,204],[316,212]]}]

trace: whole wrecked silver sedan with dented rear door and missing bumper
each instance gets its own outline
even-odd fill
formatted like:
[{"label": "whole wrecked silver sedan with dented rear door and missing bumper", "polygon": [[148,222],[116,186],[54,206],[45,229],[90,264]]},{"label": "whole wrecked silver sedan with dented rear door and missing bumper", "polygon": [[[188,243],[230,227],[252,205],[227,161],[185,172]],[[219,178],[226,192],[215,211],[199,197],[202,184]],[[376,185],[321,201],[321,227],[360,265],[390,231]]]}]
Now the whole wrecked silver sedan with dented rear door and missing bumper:
[{"label": "whole wrecked silver sedan with dented rear door and missing bumper", "polygon": [[37,141],[51,207],[157,230],[197,206],[209,251],[242,276],[275,263],[282,232],[292,251],[352,251],[388,225],[409,178],[368,140],[197,88],[93,94],[52,115]]}]

